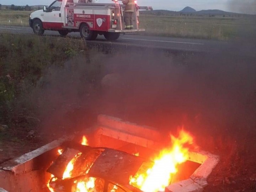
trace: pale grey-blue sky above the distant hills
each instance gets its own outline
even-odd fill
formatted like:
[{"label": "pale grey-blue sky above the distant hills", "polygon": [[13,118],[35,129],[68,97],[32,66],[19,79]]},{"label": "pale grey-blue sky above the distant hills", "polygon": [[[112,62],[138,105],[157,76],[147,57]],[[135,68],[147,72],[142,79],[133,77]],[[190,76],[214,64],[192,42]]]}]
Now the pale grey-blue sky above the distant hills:
[{"label": "pale grey-blue sky above the distant hills", "polygon": [[[14,5],[49,5],[53,0],[0,0],[0,4]],[[100,3],[111,3],[111,0],[99,0]],[[232,5],[231,3],[232,2]],[[186,6],[190,6],[196,11],[203,9],[220,9],[223,11],[246,12],[239,6],[248,4],[248,7],[255,5],[256,0],[138,0],[140,6],[152,6],[154,10],[164,9],[180,11]],[[255,6],[254,6],[255,8]]]}]

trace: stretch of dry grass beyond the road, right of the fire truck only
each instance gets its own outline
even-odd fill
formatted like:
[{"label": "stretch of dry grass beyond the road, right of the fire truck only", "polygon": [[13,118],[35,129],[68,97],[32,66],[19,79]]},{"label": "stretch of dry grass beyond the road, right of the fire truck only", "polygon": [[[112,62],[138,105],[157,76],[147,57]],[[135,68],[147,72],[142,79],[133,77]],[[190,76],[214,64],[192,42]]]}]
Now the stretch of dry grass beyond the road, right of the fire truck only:
[{"label": "stretch of dry grass beyond the road, right of the fire truck only", "polygon": [[141,15],[145,35],[229,40],[246,18]]}]

